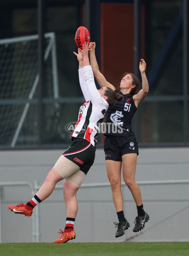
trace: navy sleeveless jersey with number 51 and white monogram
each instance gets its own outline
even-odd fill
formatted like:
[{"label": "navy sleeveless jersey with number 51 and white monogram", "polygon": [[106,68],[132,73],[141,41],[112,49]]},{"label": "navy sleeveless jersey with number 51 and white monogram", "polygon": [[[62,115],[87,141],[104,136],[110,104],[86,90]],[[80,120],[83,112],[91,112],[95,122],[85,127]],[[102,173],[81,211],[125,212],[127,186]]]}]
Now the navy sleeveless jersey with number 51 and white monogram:
[{"label": "navy sleeveless jersey with number 51 and white monogram", "polygon": [[[116,93],[123,95],[123,100],[108,107],[105,117],[104,135],[114,136],[131,136],[132,118],[137,110],[132,94],[123,94],[121,91],[115,90]],[[106,129],[106,130],[105,130]]]}]

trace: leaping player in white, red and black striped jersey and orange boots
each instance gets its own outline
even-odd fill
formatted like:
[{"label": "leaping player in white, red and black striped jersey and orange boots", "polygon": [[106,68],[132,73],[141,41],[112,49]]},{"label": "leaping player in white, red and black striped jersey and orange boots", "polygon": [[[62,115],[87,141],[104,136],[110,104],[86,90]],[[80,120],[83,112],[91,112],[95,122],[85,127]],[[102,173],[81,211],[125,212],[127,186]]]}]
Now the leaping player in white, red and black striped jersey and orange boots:
[{"label": "leaping player in white, red and black striped jersey and orange boots", "polygon": [[14,213],[29,217],[33,208],[53,192],[56,183],[64,180],[66,226],[64,231],[60,229],[58,233],[61,236],[54,243],[66,243],[76,237],[73,229],[78,210],[76,193],[94,163],[96,136],[107,108],[115,104],[116,100],[123,99],[111,88],[102,87],[97,90],[89,63],[88,45],[85,43],[83,50],[78,49],[78,54],[74,52],[79,61],[79,82],[86,102],[79,109],[78,121],[71,135],[72,144],[57,160],[41,188],[28,203],[9,205]]}]

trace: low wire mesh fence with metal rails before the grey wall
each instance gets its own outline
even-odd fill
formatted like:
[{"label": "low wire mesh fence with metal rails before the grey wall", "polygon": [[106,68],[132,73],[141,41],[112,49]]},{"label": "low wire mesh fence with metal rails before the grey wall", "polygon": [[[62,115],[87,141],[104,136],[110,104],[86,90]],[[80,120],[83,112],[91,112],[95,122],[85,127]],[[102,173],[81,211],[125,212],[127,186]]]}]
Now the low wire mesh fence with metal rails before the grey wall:
[{"label": "low wire mesh fence with metal rails before the grey wall", "polygon": [[[149,223],[145,229],[137,234],[126,232],[121,238],[122,241],[189,241],[188,233],[188,209],[189,209],[189,180],[167,180],[167,181],[146,181],[137,182],[143,195],[145,210],[150,215]],[[63,196],[60,199],[60,189],[63,185],[56,185],[54,190],[54,199],[46,199],[43,203],[37,205],[30,218],[26,218],[8,210],[8,205],[17,205],[21,200],[30,200],[40,188],[37,181],[32,185],[29,182],[0,182],[0,242],[51,242],[49,230],[59,227],[59,217],[62,212],[66,212]],[[127,186],[122,182],[123,200],[127,209],[124,209],[128,215],[130,203],[133,199],[130,193],[127,194]],[[115,215],[112,218],[111,211],[114,210],[111,198],[111,188],[109,183],[91,183],[82,184],[78,192],[77,201],[79,211],[77,214],[77,229],[83,226],[83,215],[87,212],[90,216],[90,224],[87,221],[88,237],[83,237],[83,241],[99,241],[99,227],[103,226],[102,235],[115,233],[115,227],[110,222],[115,221]],[[52,194],[53,194],[52,193]],[[25,196],[27,199],[25,199]],[[125,199],[127,197],[127,199]],[[81,207],[80,207],[81,206]],[[54,210],[58,209],[59,213],[54,216]],[[102,217],[106,212],[106,216]],[[132,213],[133,215],[133,213]],[[24,218],[23,218],[24,217]],[[78,221],[82,218],[82,221]],[[48,221],[50,219],[50,221]],[[109,220],[108,220],[109,219]],[[111,220],[112,219],[112,220]],[[61,225],[64,225],[65,217]],[[43,223],[44,222],[44,223]],[[58,222],[58,223],[57,223]],[[131,223],[130,223],[131,224]],[[81,227],[80,227],[81,225]],[[134,224],[133,224],[134,225]],[[43,232],[40,227],[43,226]],[[44,226],[47,229],[44,230]],[[57,227],[56,227],[57,226]],[[74,225],[75,227],[75,225]],[[85,229],[85,228],[83,228]],[[104,232],[104,233],[103,233]],[[96,235],[98,233],[98,235]],[[112,241],[114,235],[107,235],[105,241]],[[132,234],[132,235],[131,235]],[[124,239],[124,240],[123,240]],[[55,240],[55,239],[54,239]],[[53,241],[54,241],[53,240]],[[80,240],[79,242],[81,242]],[[76,242],[76,241],[74,241]],[[77,241],[78,242],[78,241]]]}]

